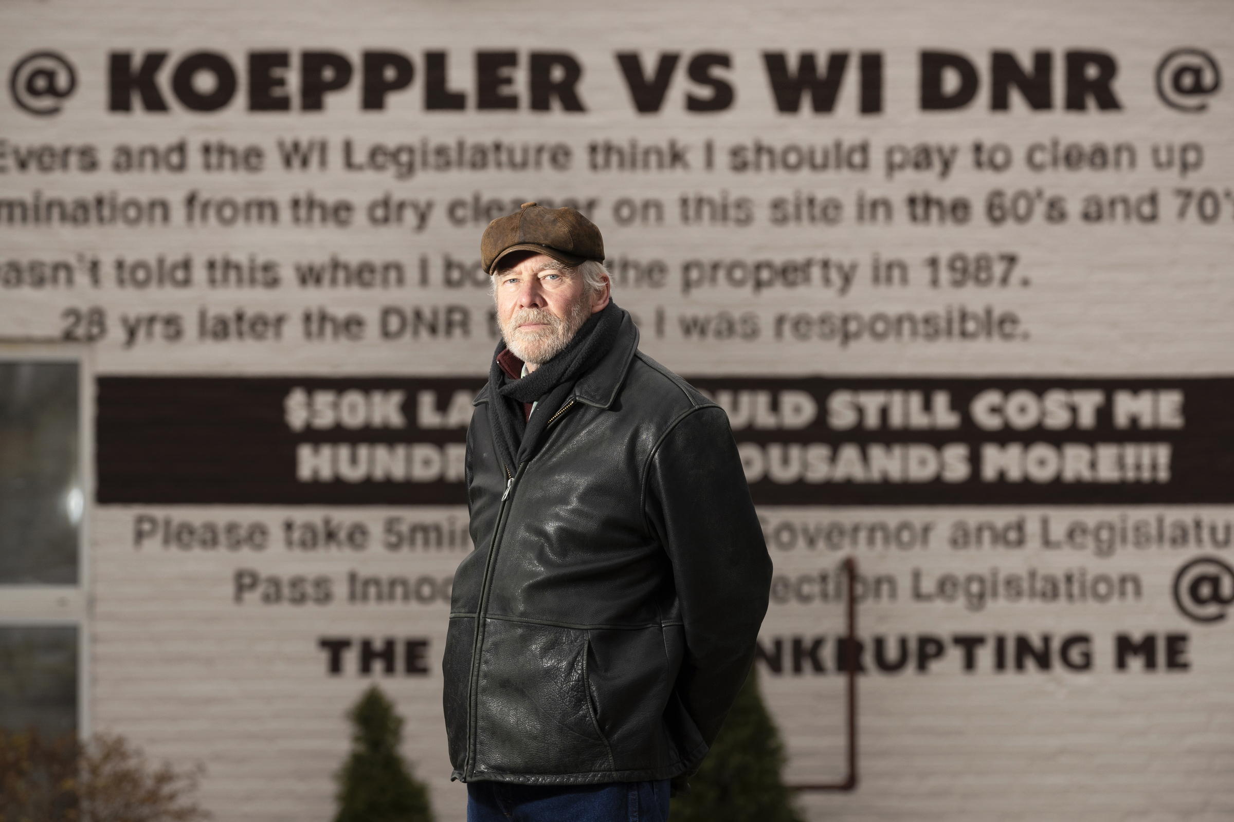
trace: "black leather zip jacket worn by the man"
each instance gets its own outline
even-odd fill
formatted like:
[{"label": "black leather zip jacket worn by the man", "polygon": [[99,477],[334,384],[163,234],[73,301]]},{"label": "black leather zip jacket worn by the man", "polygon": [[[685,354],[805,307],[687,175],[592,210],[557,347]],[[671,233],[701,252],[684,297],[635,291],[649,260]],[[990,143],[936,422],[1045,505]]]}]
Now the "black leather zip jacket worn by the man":
[{"label": "black leather zip jacket worn by the man", "polygon": [[724,412],[617,343],[511,479],[489,389],[468,431],[475,551],[458,568],[444,704],[454,778],[692,773],[754,656],[771,580]]}]

